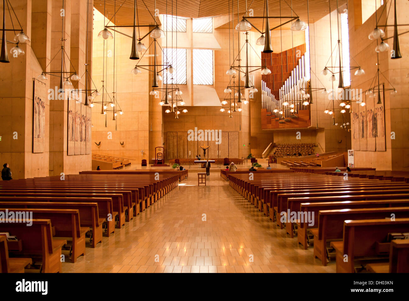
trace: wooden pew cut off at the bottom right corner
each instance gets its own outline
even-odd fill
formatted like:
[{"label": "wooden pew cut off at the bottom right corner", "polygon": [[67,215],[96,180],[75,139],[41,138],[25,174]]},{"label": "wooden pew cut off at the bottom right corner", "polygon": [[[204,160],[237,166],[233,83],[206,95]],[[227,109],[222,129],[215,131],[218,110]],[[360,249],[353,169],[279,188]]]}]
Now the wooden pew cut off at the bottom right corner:
[{"label": "wooden pew cut off at the bottom right corner", "polygon": [[373,273],[409,273],[409,240],[391,240],[389,263],[369,263],[366,269]]}]

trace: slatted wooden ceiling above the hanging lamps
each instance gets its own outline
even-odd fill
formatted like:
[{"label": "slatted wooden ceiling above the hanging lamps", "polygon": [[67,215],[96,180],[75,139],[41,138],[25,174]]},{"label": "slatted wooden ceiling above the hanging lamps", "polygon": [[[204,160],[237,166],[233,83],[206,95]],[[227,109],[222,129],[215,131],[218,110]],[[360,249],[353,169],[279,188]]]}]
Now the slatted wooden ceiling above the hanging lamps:
[{"label": "slatted wooden ceiling above the hanging lamps", "polygon": [[[232,2],[234,13],[237,14],[237,11],[239,11],[239,15],[242,16],[246,11],[246,0],[156,0],[156,9],[159,9],[159,14],[171,15],[173,11],[173,15],[187,18],[216,17],[228,15],[229,12],[231,13]],[[341,7],[346,3],[346,0],[330,0],[331,11],[336,9],[337,2],[339,7]],[[254,10],[254,16],[263,16],[264,3],[264,0],[247,0],[247,7]],[[291,13],[293,16],[297,14],[301,20],[307,22],[307,0],[269,0],[270,16],[280,16],[280,3],[281,16],[291,16]],[[114,16],[114,12],[117,11],[115,15],[116,25],[133,24],[134,0],[94,0],[94,7],[102,14],[104,5],[106,11],[105,16],[108,19],[111,19],[112,16]],[[290,9],[291,5],[295,13]],[[155,12],[155,0],[137,0],[137,9],[140,25],[151,25],[155,23],[152,17]],[[308,9],[310,23],[313,23],[329,13],[329,2],[328,0],[309,0]],[[282,19],[281,22],[284,22],[284,20],[288,19]],[[158,18],[157,22],[159,23]],[[263,20],[254,19],[252,23],[263,30]],[[234,20],[233,24],[235,26],[237,20]],[[270,27],[275,27],[279,24],[279,19],[270,19]],[[228,26],[227,19],[226,24],[218,28],[229,28]]]}]

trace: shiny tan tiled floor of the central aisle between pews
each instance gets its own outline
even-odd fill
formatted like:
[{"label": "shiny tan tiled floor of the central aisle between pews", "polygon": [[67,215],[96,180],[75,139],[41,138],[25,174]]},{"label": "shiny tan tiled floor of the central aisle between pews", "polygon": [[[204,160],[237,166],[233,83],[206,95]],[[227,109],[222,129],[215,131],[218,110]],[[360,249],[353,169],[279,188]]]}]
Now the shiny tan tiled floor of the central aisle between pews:
[{"label": "shiny tan tiled floor of the central aisle between pews", "polygon": [[323,267],[312,253],[297,247],[297,238],[287,238],[220,173],[211,172],[207,186],[198,187],[190,172],[97,248],[87,247],[77,263],[63,263],[63,272],[335,272],[335,263]]}]

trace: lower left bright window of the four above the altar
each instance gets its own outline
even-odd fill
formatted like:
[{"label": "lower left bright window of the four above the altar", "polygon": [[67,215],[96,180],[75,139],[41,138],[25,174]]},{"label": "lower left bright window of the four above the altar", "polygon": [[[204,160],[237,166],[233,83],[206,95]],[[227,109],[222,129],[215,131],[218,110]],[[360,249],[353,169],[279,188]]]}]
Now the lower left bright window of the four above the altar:
[{"label": "lower left bright window of the four above the altar", "polygon": [[164,48],[163,61],[172,65],[175,71],[170,74],[163,71],[164,84],[186,84],[186,49],[185,48]]}]

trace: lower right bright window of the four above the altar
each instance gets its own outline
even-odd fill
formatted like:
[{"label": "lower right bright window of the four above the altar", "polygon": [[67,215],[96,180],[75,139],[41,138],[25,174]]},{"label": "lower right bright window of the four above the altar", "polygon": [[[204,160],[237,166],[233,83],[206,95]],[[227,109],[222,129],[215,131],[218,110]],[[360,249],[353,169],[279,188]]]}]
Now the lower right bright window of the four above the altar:
[{"label": "lower right bright window of the four above the altar", "polygon": [[193,49],[193,85],[213,85],[213,50]]}]

